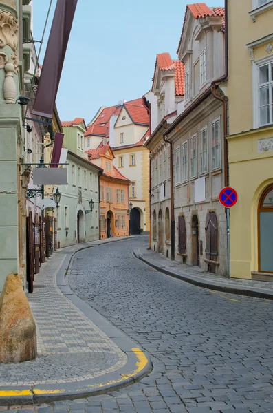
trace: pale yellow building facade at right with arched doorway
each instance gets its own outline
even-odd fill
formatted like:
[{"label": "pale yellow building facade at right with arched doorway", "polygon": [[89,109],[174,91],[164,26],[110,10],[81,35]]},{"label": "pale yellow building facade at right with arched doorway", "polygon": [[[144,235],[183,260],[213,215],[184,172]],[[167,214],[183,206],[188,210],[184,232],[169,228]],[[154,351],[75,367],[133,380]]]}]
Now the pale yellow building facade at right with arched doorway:
[{"label": "pale yellow building facade at right with arched doorway", "polygon": [[228,1],[230,275],[273,281],[272,21],[271,0]]}]

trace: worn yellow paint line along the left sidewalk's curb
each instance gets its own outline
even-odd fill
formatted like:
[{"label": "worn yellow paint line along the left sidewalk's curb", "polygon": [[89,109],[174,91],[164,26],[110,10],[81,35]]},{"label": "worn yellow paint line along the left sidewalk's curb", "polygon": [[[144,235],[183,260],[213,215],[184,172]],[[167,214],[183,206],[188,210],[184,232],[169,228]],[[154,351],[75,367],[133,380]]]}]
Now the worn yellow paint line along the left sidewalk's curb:
[{"label": "worn yellow paint line along the left sidewalk's curb", "polygon": [[[126,377],[133,377],[135,374],[138,372],[141,372],[141,370],[144,369],[146,364],[148,363],[148,359],[146,358],[144,352],[140,350],[140,348],[132,348],[131,349],[134,353],[138,361],[136,362],[136,368],[132,372],[129,372],[129,374],[121,374],[121,377],[117,380],[111,380],[107,381],[106,383],[98,383],[94,385],[89,385],[87,386],[89,389],[93,388],[102,388],[105,385],[111,385],[111,384],[116,384],[124,381],[124,378]],[[79,392],[81,389],[78,390]],[[32,396],[33,394],[59,394],[59,393],[65,393],[65,389],[54,389],[54,390],[47,390],[47,389],[34,389],[33,392],[30,390],[3,390],[0,391],[0,397],[7,397],[7,396]]]}]

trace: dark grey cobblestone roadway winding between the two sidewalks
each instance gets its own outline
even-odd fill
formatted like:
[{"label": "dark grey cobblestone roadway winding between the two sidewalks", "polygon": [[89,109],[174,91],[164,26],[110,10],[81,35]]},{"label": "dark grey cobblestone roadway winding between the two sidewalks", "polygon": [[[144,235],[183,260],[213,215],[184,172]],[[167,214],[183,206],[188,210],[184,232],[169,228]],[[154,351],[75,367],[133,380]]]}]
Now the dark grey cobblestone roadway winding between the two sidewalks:
[{"label": "dark grey cobblestone roadway winding between the two sidewalks", "polygon": [[131,253],[146,240],[81,251],[69,283],[149,352],[150,376],[111,394],[15,411],[273,412],[273,302],[210,291],[157,272]]}]

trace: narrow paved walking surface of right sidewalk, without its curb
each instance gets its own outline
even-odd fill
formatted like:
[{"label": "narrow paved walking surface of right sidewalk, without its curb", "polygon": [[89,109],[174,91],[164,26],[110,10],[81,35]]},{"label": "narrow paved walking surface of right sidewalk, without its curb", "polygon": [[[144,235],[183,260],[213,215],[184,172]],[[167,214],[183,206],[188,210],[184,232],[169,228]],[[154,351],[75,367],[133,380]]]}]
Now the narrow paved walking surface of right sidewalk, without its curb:
[{"label": "narrow paved walking surface of right sidewalk, without its curb", "polygon": [[206,273],[201,270],[201,268],[188,266],[186,264],[180,264],[176,261],[168,260],[164,255],[154,253],[147,248],[141,246],[140,248],[135,249],[137,255],[148,258],[152,264],[157,266],[164,266],[169,270],[176,270],[181,272],[184,275],[189,275],[195,279],[202,279],[209,282],[216,282],[222,286],[234,287],[234,288],[249,288],[252,290],[265,290],[273,293],[273,282],[264,282],[264,281],[255,281],[252,279],[228,279],[228,277],[223,277],[221,275],[215,275],[212,273]]}]

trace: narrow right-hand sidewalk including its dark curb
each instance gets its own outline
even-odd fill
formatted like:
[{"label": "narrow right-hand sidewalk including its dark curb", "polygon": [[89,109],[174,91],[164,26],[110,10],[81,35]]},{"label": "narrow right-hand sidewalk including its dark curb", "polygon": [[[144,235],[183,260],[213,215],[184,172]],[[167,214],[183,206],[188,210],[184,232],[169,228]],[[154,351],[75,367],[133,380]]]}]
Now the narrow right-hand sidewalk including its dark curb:
[{"label": "narrow right-hand sidewalk including its dark curb", "polygon": [[225,293],[273,300],[273,282],[252,281],[251,279],[229,279],[221,275],[206,273],[199,267],[171,261],[148,248],[138,248],[135,249],[133,253],[135,257],[153,266],[156,270],[182,279],[195,286],[223,291]]}]

